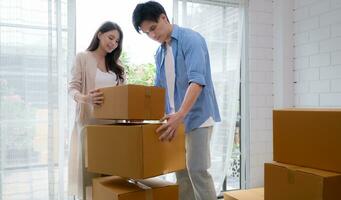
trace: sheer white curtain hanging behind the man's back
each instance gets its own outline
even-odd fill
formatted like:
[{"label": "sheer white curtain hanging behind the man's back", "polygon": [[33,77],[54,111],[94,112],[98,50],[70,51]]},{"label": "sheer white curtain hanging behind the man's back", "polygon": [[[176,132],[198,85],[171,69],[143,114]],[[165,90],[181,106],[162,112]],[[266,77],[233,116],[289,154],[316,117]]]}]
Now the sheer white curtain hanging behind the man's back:
[{"label": "sheer white curtain hanging behind the man's back", "polygon": [[[244,3],[241,0],[175,0],[174,21],[201,33],[207,42],[212,79],[222,122],[216,123],[211,141],[212,173],[219,193],[227,176],[228,189],[239,189],[240,63]],[[234,151],[234,154],[232,152]],[[234,155],[234,156],[232,156]]]}]

